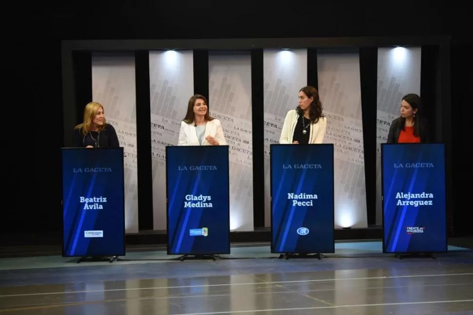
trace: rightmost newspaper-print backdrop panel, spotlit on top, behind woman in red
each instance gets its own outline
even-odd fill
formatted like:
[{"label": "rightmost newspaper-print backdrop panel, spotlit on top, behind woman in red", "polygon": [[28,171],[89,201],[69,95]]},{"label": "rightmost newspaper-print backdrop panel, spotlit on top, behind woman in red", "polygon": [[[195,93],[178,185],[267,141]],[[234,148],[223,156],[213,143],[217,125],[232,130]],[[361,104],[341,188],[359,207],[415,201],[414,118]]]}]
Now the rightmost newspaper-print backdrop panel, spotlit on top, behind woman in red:
[{"label": "rightmost newspaper-print backdrop panel, spotlit on top, behind woman in red", "polygon": [[378,48],[376,130],[376,224],[382,224],[381,143],[386,143],[391,122],[399,117],[401,98],[420,95],[420,47]]}]

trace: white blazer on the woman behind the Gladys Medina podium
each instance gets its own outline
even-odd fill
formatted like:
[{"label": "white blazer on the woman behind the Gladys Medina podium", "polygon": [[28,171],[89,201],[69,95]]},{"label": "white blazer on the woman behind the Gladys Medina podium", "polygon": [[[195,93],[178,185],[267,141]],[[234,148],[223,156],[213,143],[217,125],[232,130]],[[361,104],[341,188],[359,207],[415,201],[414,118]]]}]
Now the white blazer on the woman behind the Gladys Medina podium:
[{"label": "white blazer on the woman behind the Gladys Medina podium", "polygon": [[179,141],[177,143],[178,146],[211,146],[210,143],[205,140],[205,137],[212,136],[214,137],[220,146],[226,146],[227,142],[225,141],[225,137],[223,136],[223,129],[222,124],[218,119],[214,119],[208,121],[205,126],[205,134],[202,140],[202,143],[199,143],[199,139],[197,138],[197,129],[192,124],[187,124],[186,122],[182,121],[180,123],[180,130],[179,130]]}]

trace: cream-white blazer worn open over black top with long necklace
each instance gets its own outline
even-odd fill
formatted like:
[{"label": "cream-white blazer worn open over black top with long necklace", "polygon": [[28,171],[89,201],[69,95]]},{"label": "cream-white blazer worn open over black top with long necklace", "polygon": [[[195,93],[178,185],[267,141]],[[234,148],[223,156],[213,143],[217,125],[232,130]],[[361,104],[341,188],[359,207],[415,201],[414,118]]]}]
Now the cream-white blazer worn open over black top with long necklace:
[{"label": "cream-white blazer worn open over black top with long necklace", "polygon": [[[297,119],[299,114],[296,110],[290,110],[286,114],[284,124],[282,125],[281,136],[279,143],[292,144],[294,137],[294,130],[296,129]],[[309,131],[309,144],[323,143],[325,131],[327,130],[327,118],[320,117],[316,124],[311,124]]]}]

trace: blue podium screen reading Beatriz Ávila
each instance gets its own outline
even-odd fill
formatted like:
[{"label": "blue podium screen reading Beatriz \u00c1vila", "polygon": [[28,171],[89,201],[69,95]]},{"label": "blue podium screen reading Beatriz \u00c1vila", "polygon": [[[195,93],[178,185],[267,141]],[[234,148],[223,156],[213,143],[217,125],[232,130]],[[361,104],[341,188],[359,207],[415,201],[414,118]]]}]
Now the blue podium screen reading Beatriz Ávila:
[{"label": "blue podium screen reading Beatriz \u00c1vila", "polygon": [[125,255],[123,148],[62,148],[62,256]]}]

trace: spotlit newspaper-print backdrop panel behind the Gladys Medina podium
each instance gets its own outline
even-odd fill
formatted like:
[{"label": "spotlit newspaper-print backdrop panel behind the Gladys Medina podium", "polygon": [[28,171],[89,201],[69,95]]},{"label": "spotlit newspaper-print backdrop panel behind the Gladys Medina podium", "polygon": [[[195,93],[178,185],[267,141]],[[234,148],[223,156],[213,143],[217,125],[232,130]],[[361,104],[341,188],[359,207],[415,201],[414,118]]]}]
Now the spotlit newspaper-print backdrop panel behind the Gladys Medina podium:
[{"label": "spotlit newspaper-print backdrop panel behind the Gladys Medina podium", "polygon": [[149,53],[153,228],[166,230],[166,146],[176,146],[194,95],[193,51]]}]

